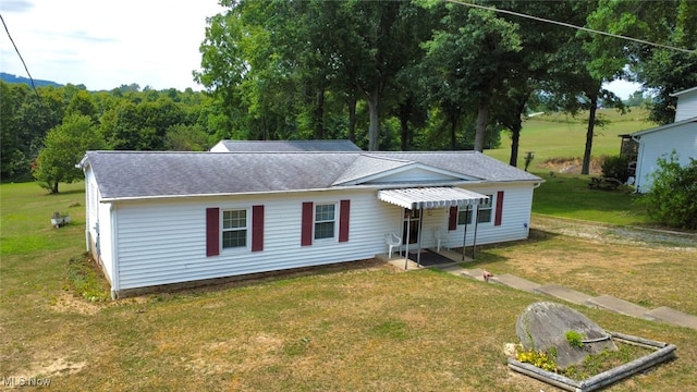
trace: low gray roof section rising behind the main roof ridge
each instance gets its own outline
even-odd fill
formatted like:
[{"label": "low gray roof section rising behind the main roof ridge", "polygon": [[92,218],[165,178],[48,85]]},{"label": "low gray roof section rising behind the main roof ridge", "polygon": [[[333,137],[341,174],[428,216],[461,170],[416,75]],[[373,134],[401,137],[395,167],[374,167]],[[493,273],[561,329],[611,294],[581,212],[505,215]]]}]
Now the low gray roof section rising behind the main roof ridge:
[{"label": "low gray roof section rising behind the main roof ridge", "polygon": [[221,140],[230,152],[362,151],[351,140]]}]

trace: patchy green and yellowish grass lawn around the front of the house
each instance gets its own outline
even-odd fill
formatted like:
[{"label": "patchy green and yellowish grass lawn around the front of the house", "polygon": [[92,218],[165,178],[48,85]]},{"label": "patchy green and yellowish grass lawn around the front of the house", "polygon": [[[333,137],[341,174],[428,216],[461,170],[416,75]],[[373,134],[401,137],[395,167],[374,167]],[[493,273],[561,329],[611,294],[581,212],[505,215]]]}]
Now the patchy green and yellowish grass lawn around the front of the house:
[{"label": "patchy green and yellowish grass lawn around the front of the house", "polygon": [[[558,213],[554,186],[583,187],[575,181],[550,182],[551,201],[536,209]],[[548,297],[436,270],[366,261],[89,302],[68,279],[85,248],[82,187],[49,196],[36,184],[0,185],[0,377],[47,377],[60,391],[554,390],[509,370],[503,354],[519,313]],[[52,211],[72,223],[51,229]],[[694,253],[533,234],[482,247],[470,266],[697,314]],[[610,391],[697,388],[697,331],[575,308],[608,330],[677,346],[676,360]]]}]

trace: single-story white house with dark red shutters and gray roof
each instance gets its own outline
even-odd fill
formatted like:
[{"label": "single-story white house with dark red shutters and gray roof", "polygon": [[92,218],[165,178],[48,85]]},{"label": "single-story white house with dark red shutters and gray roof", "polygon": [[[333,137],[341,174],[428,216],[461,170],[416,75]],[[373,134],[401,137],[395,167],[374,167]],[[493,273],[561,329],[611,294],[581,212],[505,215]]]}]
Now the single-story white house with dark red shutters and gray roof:
[{"label": "single-story white house with dark red shutters and gray roof", "polygon": [[412,247],[526,238],[542,182],[475,151],[88,151],[81,167],[86,247],[114,298],[368,259],[388,233]]}]

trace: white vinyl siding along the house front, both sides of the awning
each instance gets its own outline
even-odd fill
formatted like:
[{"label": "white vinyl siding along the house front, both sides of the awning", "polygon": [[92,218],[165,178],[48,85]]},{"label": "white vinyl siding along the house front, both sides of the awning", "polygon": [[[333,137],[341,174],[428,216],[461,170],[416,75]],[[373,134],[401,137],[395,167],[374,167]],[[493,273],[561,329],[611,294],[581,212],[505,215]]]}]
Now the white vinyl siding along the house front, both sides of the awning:
[{"label": "white vinyl siding along the house front, both sides of the awning", "polygon": [[[531,183],[468,189],[493,195],[505,191],[503,224],[480,224],[477,244],[527,237]],[[301,246],[303,203],[308,200],[315,206],[337,206],[334,235],[340,215],[338,200],[351,200],[350,241],[317,241],[313,246]],[[239,248],[222,252],[217,257],[206,257],[206,209],[220,208],[221,220],[222,211],[247,210],[248,242],[250,205],[265,207],[264,250]],[[108,205],[102,206],[103,210],[109,210]],[[378,200],[377,189],[370,188],[123,201],[115,205],[113,212],[118,219],[114,221],[115,231],[109,233],[109,237],[118,247],[107,250],[118,257],[114,262],[118,266],[117,291],[369,259],[387,252],[384,234],[401,235],[404,217],[401,207]],[[464,225],[456,231],[448,231],[448,217],[447,208],[424,211],[421,246],[435,246],[435,230],[443,234],[443,246],[462,246]],[[473,236],[470,225],[468,245]]]}]

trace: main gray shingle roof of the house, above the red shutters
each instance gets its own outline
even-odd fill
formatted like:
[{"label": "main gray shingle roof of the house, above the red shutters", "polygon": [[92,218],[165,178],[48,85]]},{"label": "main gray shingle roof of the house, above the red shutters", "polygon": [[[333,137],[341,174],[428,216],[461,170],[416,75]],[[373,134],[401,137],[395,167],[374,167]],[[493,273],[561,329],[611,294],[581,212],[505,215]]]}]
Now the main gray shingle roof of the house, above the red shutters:
[{"label": "main gray shingle roof of the house, above the red shutters", "polygon": [[419,162],[481,181],[540,181],[480,152],[88,151],[107,199],[326,189]]}]

